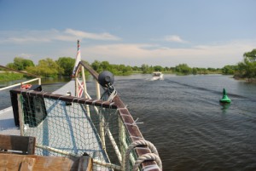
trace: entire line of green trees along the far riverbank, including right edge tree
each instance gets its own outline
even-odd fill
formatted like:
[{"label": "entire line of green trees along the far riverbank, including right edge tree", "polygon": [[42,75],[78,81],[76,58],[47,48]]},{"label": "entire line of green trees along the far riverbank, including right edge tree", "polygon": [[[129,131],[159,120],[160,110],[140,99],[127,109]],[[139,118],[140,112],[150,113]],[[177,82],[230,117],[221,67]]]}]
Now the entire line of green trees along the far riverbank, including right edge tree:
[{"label": "entire line of green trees along the far riverbank, including right edge tree", "polygon": [[[87,64],[89,62],[84,61]],[[40,77],[70,77],[73,71],[75,59],[71,57],[60,57],[58,60],[46,58],[39,60],[35,65],[32,60],[15,57],[13,63],[7,64],[7,67],[18,70],[27,71]],[[256,78],[256,48],[251,52],[243,54],[243,60],[236,66],[224,66],[223,68],[199,68],[189,67],[187,64],[179,64],[175,67],[163,66],[125,66],[109,64],[108,61],[95,60],[89,64],[95,71],[111,71],[114,75],[129,75],[131,73],[152,73],[153,71],[172,72],[176,74],[210,74],[222,73],[234,75],[238,78]]]}]

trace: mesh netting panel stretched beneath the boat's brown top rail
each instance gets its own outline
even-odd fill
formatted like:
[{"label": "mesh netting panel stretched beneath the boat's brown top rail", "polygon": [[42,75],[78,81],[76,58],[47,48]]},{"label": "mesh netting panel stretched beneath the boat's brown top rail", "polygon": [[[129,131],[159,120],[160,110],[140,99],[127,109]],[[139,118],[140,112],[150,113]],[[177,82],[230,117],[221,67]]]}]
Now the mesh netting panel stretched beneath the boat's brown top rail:
[{"label": "mesh netting panel stretched beneath the boat's brown top rail", "polygon": [[[120,166],[131,138],[116,109],[20,95],[23,131],[37,141],[42,156],[89,155]],[[137,155],[131,154],[131,164]],[[94,170],[112,170],[94,163]]]}]

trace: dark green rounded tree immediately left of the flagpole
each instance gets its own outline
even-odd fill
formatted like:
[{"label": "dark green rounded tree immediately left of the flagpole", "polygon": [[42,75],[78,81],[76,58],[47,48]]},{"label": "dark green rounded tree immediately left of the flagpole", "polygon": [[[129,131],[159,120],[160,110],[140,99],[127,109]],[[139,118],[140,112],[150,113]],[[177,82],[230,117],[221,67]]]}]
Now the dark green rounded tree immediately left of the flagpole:
[{"label": "dark green rounded tree immediately left of the flagpole", "polygon": [[56,63],[63,69],[63,76],[72,75],[75,59],[71,57],[60,57],[58,60],[56,60]]}]

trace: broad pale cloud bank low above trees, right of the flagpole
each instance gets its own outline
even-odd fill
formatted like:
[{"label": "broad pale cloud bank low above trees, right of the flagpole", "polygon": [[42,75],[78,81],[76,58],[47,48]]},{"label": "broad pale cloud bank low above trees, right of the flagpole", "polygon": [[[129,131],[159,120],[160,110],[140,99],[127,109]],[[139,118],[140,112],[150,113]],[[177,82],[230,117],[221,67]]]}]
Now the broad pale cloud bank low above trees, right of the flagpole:
[{"label": "broad pale cloud bank low above trees, right of the flagpole", "polygon": [[[191,48],[168,48],[150,44],[108,44],[82,46],[82,57],[90,62],[108,60],[131,66],[142,64],[176,66],[186,63],[191,67],[223,67],[236,65],[242,54],[256,47],[255,41],[233,41]],[[89,58],[88,58],[89,57]]]}]

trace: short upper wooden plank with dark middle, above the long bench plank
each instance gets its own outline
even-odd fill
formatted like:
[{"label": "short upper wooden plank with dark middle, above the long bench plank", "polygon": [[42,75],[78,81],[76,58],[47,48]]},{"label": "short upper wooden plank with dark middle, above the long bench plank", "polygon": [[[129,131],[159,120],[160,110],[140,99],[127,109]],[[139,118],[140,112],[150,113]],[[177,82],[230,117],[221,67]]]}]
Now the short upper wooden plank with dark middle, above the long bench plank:
[{"label": "short upper wooden plank with dark middle, above the long bench plank", "polygon": [[0,134],[0,149],[3,150],[34,154],[35,142],[36,139],[34,137]]}]

